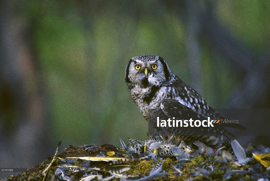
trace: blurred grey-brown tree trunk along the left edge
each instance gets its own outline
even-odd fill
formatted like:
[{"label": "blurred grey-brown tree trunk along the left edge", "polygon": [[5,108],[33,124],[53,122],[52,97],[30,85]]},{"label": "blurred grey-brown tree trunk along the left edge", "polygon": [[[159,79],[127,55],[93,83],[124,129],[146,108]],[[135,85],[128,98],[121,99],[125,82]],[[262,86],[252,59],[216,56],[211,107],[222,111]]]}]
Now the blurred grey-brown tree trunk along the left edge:
[{"label": "blurred grey-brown tree trunk along the left edge", "polygon": [[26,36],[29,24],[9,1],[1,1],[0,12],[0,163],[29,168],[48,148],[42,80]]}]

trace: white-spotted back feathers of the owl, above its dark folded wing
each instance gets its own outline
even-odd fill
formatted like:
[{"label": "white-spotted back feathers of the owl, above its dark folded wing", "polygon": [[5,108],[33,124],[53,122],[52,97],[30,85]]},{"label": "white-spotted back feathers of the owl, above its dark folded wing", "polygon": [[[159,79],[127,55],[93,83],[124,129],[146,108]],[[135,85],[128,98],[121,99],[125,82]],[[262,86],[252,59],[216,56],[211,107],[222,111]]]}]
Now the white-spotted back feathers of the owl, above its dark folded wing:
[{"label": "white-spotted back feathers of the owl, above its dark folded wing", "polygon": [[[182,81],[179,77],[175,77],[175,81],[173,81],[170,87],[172,89],[171,92],[176,94],[176,97],[171,96],[171,98],[183,106],[192,109],[199,109],[201,110],[200,114],[202,116],[206,118],[210,117],[211,120],[227,119],[211,108],[196,90],[194,90],[189,84]],[[247,130],[245,126],[237,123],[226,124],[224,127]]]}]

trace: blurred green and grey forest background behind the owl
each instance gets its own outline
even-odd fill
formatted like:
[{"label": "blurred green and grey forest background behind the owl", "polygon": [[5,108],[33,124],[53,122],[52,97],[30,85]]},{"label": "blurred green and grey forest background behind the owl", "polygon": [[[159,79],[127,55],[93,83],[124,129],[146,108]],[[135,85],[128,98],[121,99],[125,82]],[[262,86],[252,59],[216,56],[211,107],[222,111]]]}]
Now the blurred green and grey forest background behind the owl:
[{"label": "blurred green and grey forest background behind the owl", "polygon": [[213,108],[270,107],[269,1],[0,5],[5,167],[39,163],[60,139],[62,149],[148,139],[125,84],[125,66],[138,55],[163,57]]}]

